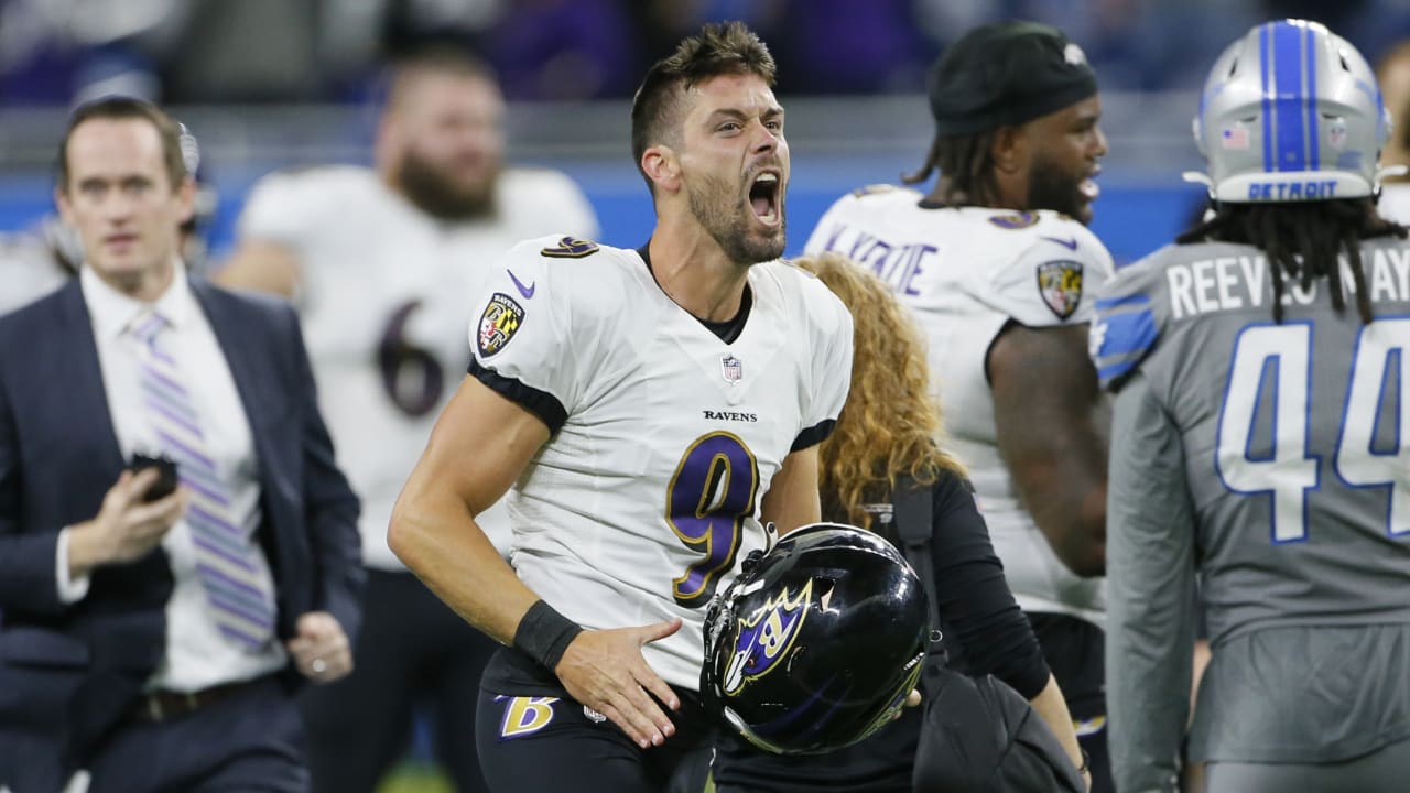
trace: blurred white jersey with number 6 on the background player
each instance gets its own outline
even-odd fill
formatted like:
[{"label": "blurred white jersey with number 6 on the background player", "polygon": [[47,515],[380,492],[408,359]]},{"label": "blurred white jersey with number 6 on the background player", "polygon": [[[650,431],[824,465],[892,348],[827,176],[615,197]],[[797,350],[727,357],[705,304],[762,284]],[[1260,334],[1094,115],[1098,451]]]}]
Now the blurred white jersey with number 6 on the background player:
[{"label": "blurred white jersey with number 6 on the background player", "polygon": [[[495,200],[494,219],[446,223],[371,169],[329,167],[264,178],[240,217],[241,240],[281,243],[300,262],[296,302],[319,405],[362,498],[362,556],[374,567],[405,569],[386,546],[386,525],[465,377],[470,305],[489,267],[527,237],[596,233],[581,190],[554,171],[505,171]],[[384,365],[398,350],[405,363]],[[481,522],[508,552],[503,508]]]}]

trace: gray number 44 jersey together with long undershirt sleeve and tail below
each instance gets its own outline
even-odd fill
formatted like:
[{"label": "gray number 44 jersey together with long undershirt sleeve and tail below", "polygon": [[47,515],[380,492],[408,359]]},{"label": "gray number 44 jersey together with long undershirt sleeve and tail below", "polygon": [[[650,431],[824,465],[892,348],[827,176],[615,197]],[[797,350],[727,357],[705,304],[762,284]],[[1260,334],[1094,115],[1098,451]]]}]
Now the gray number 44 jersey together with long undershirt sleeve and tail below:
[{"label": "gray number 44 jersey together with long undershirt sleeve and tail below", "polygon": [[[1193,756],[1330,761],[1410,725],[1402,632],[1316,648],[1300,632],[1410,624],[1410,244],[1372,240],[1362,257],[1369,325],[1354,295],[1338,313],[1323,279],[1285,281],[1275,323],[1268,262],[1248,246],[1170,246],[1098,295],[1091,354],[1118,392],[1107,676],[1121,789],[1163,789],[1173,769],[1196,567],[1215,660]],[[1356,674],[1328,677],[1348,663]]]}]

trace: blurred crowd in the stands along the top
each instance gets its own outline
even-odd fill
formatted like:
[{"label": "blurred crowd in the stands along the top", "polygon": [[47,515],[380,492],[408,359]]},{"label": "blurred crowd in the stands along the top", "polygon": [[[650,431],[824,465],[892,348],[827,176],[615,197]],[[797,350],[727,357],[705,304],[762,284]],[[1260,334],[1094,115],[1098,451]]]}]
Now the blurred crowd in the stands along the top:
[{"label": "blurred crowd in the stands along the top", "polygon": [[1407,0],[0,0],[0,104],[357,102],[385,58],[427,40],[479,52],[509,100],[625,99],[712,18],[771,42],[785,93],[918,92],[960,31],[1018,17],[1066,30],[1103,90],[1175,90],[1280,16],[1318,18],[1372,59],[1410,34]]}]

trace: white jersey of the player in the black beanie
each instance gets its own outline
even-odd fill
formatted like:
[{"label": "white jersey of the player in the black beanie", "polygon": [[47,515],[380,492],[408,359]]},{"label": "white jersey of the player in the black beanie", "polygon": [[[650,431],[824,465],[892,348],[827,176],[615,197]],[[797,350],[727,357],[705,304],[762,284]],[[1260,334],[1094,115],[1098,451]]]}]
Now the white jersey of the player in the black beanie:
[{"label": "white jersey of the player in the black beanie", "polygon": [[1103,581],[1077,577],[1058,559],[998,454],[986,360],[1008,322],[1090,322],[1091,295],[1114,274],[1111,254],[1056,212],[922,206],[922,199],[891,186],[847,195],[822,216],[805,251],[838,251],[871,268],[914,310],[929,343],[946,447],[969,467],[1018,605],[1100,624]]}]

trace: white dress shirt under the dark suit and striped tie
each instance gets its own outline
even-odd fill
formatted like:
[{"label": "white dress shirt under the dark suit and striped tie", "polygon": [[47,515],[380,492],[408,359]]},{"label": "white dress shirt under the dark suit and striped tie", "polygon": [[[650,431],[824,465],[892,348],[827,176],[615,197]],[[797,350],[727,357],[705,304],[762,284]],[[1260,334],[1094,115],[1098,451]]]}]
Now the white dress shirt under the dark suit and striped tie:
[{"label": "white dress shirt under the dark suit and striped tie", "polygon": [[[224,353],[186,282],[185,267],[178,262],[173,270],[171,286],[152,303],[169,323],[161,336],[162,349],[180,367],[183,385],[200,416],[206,452],[228,488],[230,515],[252,535],[259,525],[259,480],[250,422]],[[86,265],[79,279],[93,322],[117,443],[127,459],[137,452],[155,454],[161,444],[142,402],[141,341],[131,327],[148,306],[109,286]],[[73,603],[86,597],[87,580],[68,577],[68,532],[59,538],[59,594]],[[269,577],[264,552],[258,545],[254,547],[261,573]],[[250,653],[220,635],[196,571],[196,552],[185,519],[166,533],[162,549],[171,560],[175,587],[166,604],[166,658],[149,680],[151,689],[197,691],[283,667],[288,656],[278,641]]]}]

